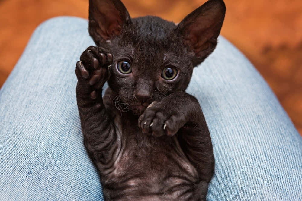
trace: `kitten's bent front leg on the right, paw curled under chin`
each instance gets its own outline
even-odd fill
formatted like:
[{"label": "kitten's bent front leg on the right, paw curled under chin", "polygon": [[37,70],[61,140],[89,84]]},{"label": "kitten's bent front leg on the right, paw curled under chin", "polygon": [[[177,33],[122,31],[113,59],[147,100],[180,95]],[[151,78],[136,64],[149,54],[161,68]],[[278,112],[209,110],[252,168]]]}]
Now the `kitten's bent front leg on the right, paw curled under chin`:
[{"label": "kitten's bent front leg on the right, paw curled under chin", "polygon": [[[187,159],[198,172],[195,192],[205,198],[214,173],[214,155],[210,133],[198,100],[178,91],[152,104],[140,116],[139,127],[154,136],[176,134]],[[192,198],[193,199],[193,198]]]}]

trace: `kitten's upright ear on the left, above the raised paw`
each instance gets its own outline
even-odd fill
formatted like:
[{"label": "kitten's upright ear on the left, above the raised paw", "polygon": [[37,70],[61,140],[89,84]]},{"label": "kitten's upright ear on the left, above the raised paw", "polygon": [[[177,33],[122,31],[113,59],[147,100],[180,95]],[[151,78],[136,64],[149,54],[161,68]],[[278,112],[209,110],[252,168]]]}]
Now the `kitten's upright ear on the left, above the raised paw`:
[{"label": "kitten's upright ear on the left, above the raised paw", "polygon": [[97,45],[120,35],[130,23],[130,15],[120,0],[89,0],[88,30]]}]

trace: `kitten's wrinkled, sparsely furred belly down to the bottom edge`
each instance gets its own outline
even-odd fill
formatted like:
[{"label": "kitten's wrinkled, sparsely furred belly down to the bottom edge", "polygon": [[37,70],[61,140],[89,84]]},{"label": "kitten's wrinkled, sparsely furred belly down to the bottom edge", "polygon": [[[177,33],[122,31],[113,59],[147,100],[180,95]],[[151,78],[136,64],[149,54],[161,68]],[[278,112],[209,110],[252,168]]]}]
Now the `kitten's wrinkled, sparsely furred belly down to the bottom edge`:
[{"label": "kitten's wrinkled, sparsely furred belly down to the bottom edge", "polygon": [[197,182],[176,137],[167,136],[125,140],[114,170],[102,175],[104,194],[114,200],[186,200]]}]

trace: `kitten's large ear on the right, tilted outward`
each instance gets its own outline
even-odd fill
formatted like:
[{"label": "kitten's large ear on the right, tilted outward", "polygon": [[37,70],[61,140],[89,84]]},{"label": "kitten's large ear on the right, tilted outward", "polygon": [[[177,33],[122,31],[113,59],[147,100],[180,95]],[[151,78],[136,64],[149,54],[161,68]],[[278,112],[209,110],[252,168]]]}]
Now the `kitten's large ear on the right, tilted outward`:
[{"label": "kitten's large ear on the right, tilted outward", "polygon": [[223,0],[209,0],[178,24],[177,30],[193,55],[193,66],[204,61],[215,49],[225,12]]}]

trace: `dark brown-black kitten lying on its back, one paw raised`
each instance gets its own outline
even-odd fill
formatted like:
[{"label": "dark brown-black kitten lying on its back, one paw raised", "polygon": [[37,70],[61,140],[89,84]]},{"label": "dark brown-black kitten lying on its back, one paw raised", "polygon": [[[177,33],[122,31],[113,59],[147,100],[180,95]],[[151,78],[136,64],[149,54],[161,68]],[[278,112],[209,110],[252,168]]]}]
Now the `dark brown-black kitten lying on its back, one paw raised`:
[{"label": "dark brown-black kitten lying on its back, one paw raised", "polygon": [[225,12],[223,0],[209,0],[175,25],[130,18],[120,0],[89,0],[96,46],[76,63],[76,98],[105,200],[206,199],[213,147],[185,89],[215,49]]}]

